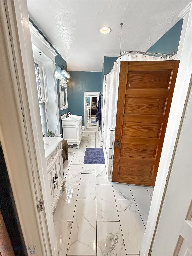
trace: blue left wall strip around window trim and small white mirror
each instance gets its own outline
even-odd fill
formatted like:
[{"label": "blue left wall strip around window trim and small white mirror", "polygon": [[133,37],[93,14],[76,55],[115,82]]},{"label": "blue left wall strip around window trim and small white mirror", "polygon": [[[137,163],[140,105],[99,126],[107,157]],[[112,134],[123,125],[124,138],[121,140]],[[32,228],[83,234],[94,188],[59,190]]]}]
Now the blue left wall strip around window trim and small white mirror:
[{"label": "blue left wall strip around window trim and small white mirror", "polygon": [[63,65],[64,69],[67,69],[67,62],[61,57],[61,55],[58,53],[58,51],[53,47],[53,45],[49,42],[49,40],[44,36],[44,34],[39,30],[39,28],[35,25],[35,23],[29,18],[29,21],[33,24],[33,26],[39,31],[39,33],[45,38],[45,40],[51,45],[51,47],[57,52],[57,56],[55,57],[55,69],[56,69],[56,79],[57,79],[57,96],[58,96],[58,106],[59,106],[59,120],[60,120],[60,133],[63,134],[62,131],[62,121],[61,121],[61,115],[68,112],[67,109],[60,110],[60,96],[59,96],[59,78],[63,76],[61,74],[60,66]]}]

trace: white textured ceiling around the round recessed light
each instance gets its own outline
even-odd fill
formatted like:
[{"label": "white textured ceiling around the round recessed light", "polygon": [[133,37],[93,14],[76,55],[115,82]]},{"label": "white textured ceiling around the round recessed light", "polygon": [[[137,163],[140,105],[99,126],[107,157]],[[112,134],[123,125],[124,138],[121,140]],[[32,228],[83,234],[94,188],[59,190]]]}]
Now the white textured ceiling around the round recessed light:
[{"label": "white textured ceiling around the round recessed light", "polygon": [[[102,71],[104,56],[146,51],[179,20],[190,1],[28,0],[29,17],[67,62],[68,70]],[[109,26],[110,34],[100,28]]]}]

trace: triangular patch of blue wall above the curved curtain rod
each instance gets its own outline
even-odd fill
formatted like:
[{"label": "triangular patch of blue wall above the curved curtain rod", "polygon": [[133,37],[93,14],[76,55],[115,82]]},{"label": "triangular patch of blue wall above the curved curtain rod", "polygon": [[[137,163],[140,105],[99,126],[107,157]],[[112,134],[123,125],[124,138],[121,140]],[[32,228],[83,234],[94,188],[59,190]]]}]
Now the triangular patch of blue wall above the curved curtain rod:
[{"label": "triangular patch of blue wall above the curved curtain rod", "polygon": [[182,25],[183,19],[178,21],[169,31],[167,31],[167,33],[152,45],[148,49],[148,52],[172,53],[175,51],[175,53],[177,53]]}]

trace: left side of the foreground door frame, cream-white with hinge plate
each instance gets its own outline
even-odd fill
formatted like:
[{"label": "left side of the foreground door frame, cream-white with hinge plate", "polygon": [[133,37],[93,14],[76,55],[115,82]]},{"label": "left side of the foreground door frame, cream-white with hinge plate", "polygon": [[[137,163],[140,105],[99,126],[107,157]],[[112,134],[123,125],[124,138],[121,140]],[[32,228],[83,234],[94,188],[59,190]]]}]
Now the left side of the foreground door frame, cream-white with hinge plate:
[{"label": "left side of the foreground door frame, cream-white with hinge plate", "polygon": [[[7,56],[4,61],[1,58],[1,71],[6,74],[1,79],[5,84],[9,78],[6,88],[1,87],[2,149],[25,244],[35,245],[37,255],[56,256],[27,2],[0,1],[0,8]],[[40,198],[41,213],[37,208]]]}]

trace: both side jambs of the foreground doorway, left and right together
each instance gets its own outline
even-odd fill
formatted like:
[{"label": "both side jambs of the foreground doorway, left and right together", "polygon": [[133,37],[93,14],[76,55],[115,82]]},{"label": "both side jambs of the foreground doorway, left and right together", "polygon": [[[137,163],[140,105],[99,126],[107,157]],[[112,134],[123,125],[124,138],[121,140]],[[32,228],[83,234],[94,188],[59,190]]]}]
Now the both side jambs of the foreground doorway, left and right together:
[{"label": "both side jambs of the foreground doorway, left and right together", "polygon": [[[6,13],[5,10],[3,10],[3,12],[1,10],[1,21],[2,24],[4,24],[8,19],[9,25],[9,31],[6,30],[7,25],[5,24],[6,26],[3,26],[3,32],[7,44],[7,55],[9,57],[8,61],[10,66],[9,72],[12,81],[12,89],[14,91],[12,96],[14,97],[13,102],[15,102],[15,110],[13,111],[13,109],[11,109],[12,105],[7,102],[7,110],[12,111],[7,111],[7,119],[5,118],[3,122],[0,122],[2,148],[24,241],[28,245],[34,241],[35,245],[39,247],[39,255],[56,256],[56,239],[54,239],[55,237],[53,238],[52,234],[53,220],[49,214],[50,202],[47,199],[45,191],[47,182],[46,178],[44,178],[46,163],[43,138],[41,136],[40,113],[37,115],[39,111],[38,97],[35,97],[34,94],[34,92],[37,93],[37,88],[35,73],[32,71],[34,64],[27,4],[26,1],[19,0],[1,1],[1,9],[4,8],[4,3],[6,5]],[[192,12],[190,11],[141,256],[148,256],[151,250],[161,204],[164,193],[166,192],[169,166],[175,150],[177,133],[189,88],[190,72],[192,70],[191,24]],[[12,36],[11,39],[13,39],[11,43],[9,32]],[[6,94],[2,95],[2,97],[3,96],[6,97]],[[6,106],[4,106],[4,111],[6,110],[5,107]],[[17,114],[16,118],[14,114]],[[18,125],[18,129],[15,129],[16,125]],[[23,155],[20,154],[20,159],[25,157],[24,160],[26,163],[22,166],[23,168],[25,167],[25,169],[18,169],[18,173],[15,175],[16,167],[14,167],[13,164],[18,163],[12,153],[19,158],[19,153],[21,152],[19,152],[18,146],[21,146],[23,150]],[[34,179],[36,180],[37,177],[39,177],[42,182],[41,188],[38,187],[38,183],[34,184]],[[47,234],[43,231],[43,227],[41,226],[42,218],[37,211],[37,195],[35,193],[37,191],[35,190],[39,189],[44,199],[44,217],[47,225]],[[31,230],[33,230],[33,232],[31,232]],[[47,243],[48,240],[52,243]],[[29,252],[28,255],[30,255]]]}]

